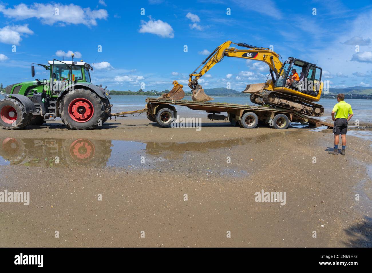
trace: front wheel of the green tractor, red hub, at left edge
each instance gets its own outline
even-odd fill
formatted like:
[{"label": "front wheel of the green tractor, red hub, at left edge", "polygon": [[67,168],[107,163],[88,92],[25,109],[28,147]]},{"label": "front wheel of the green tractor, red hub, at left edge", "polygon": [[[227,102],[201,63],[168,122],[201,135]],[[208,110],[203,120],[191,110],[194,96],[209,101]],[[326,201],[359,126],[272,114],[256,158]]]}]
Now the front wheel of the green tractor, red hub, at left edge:
[{"label": "front wheel of the green tractor, red hub, at left edge", "polygon": [[30,122],[25,107],[13,98],[0,101],[0,127],[7,130],[23,129]]}]

